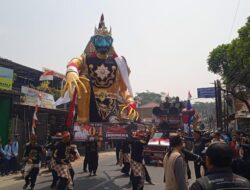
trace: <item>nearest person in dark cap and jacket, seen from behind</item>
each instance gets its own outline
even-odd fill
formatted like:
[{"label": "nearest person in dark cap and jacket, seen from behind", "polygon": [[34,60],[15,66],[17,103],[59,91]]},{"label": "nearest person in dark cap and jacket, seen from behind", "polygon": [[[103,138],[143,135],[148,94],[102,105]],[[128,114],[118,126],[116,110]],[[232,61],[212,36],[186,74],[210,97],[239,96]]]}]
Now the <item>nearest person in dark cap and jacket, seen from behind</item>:
[{"label": "nearest person in dark cap and jacket, seen from behind", "polygon": [[232,172],[233,153],[223,142],[211,144],[206,150],[207,173],[192,184],[190,190],[243,190],[250,189],[250,182]]}]

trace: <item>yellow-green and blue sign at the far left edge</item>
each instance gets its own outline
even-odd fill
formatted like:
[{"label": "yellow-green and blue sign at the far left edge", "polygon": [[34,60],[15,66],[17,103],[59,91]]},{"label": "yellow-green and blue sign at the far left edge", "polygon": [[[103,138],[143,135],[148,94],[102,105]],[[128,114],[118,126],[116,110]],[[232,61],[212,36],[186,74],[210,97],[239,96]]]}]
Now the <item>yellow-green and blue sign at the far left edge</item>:
[{"label": "yellow-green and blue sign at the far left edge", "polygon": [[12,90],[13,70],[0,67],[0,89]]}]

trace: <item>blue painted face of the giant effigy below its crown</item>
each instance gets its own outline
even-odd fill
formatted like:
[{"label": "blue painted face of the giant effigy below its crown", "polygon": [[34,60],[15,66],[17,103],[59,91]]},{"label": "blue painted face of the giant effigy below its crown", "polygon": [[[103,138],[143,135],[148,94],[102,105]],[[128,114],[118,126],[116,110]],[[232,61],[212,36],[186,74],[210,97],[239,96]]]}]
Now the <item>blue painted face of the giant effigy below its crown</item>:
[{"label": "blue painted face of the giant effigy below its crown", "polygon": [[107,54],[112,47],[113,38],[111,36],[95,35],[91,37],[91,42],[95,46],[97,53]]}]

